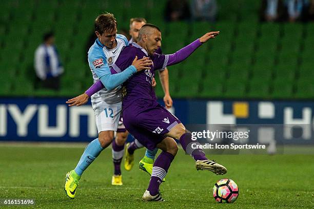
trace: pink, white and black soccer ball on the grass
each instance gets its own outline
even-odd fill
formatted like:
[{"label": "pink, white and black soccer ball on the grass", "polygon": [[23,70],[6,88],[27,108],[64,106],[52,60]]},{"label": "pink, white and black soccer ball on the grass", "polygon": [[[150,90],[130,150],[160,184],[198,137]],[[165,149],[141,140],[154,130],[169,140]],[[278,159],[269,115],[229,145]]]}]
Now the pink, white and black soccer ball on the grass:
[{"label": "pink, white and black soccer ball on the grass", "polygon": [[221,179],[215,183],[212,194],[217,202],[232,203],[239,196],[239,188],[231,179]]}]

